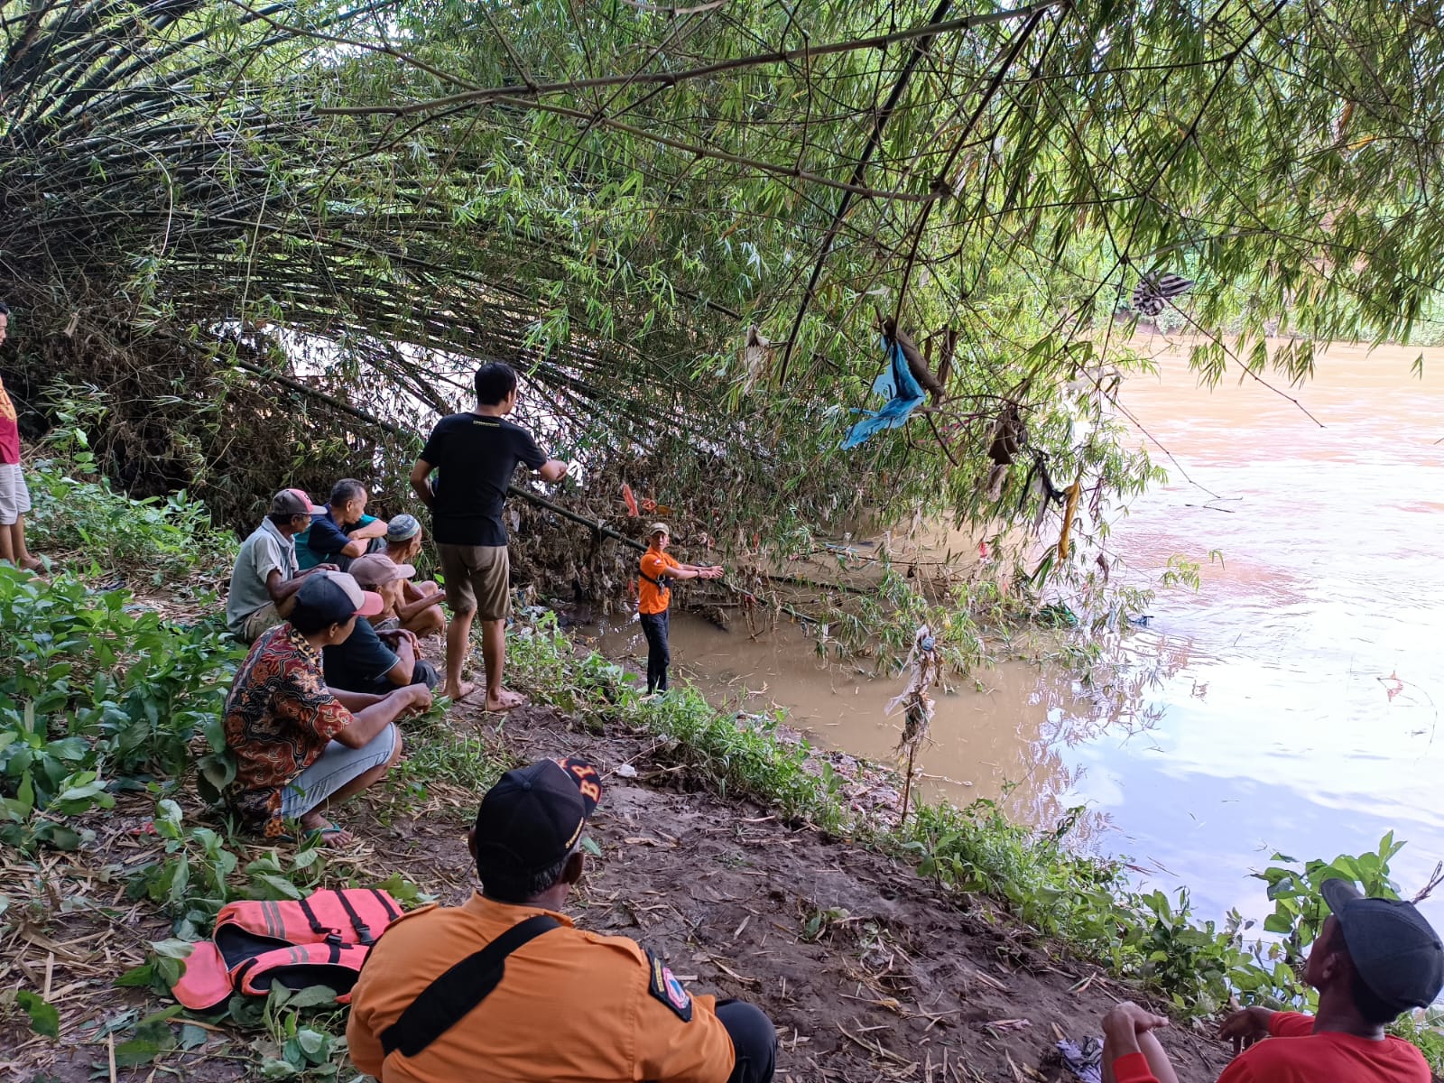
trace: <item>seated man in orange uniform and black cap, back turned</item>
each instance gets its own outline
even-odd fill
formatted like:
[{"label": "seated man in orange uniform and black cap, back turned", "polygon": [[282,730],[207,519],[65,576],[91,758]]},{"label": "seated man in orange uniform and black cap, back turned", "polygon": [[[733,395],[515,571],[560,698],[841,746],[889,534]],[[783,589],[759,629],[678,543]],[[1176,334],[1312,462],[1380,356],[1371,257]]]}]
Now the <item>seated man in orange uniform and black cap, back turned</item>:
[{"label": "seated man in orange uniform and black cap, back turned", "polygon": [[351,998],[351,1060],[381,1083],[767,1083],[777,1032],[693,996],[634,940],[560,913],[601,800],[582,760],[508,771],[468,845],[481,891],[387,928]]}]

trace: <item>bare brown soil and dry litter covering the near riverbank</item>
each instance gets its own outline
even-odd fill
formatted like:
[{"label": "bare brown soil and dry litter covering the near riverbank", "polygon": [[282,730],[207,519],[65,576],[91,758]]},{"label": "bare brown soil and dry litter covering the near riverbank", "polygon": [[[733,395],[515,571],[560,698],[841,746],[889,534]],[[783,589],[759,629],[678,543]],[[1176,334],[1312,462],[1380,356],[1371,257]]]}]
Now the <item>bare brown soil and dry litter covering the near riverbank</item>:
[{"label": "bare brown soil and dry litter covering the near riverbank", "polygon": [[[982,898],[719,800],[703,780],[654,758],[647,736],[591,734],[540,708],[497,722],[468,705],[448,719],[516,761],[580,752],[609,773],[591,830],[602,856],[570,907],[578,923],[666,954],[699,992],[761,1005],[778,1028],[778,1080],[1069,1080],[1058,1037],[1096,1034],[1115,1001],[1138,996]],[[634,777],[615,774],[624,764]],[[344,822],[367,846],[334,859],[332,875],[364,881],[400,871],[442,902],[462,901],[472,890],[464,835],[475,800],[436,784],[425,809],[394,793],[352,806]],[[147,940],[169,934],[149,904],[124,902],[105,871],[153,853],[136,833],[149,807],[140,796],[123,800],[90,825],[97,843],[79,855],[0,865],[0,894],[12,897],[6,920],[16,926],[0,943],[0,989],[49,988],[62,1014],[61,1044],[36,1038],[0,992],[0,1077],[152,1077],[156,1064],[111,1074],[107,1040],[97,1037],[97,1022],[127,1006],[157,1009],[143,992],[110,986],[143,959]],[[61,900],[77,892],[95,907],[61,913]],[[253,1064],[251,1041],[218,1028],[204,1048],[157,1064],[192,1083],[228,1082]],[[1165,1032],[1164,1044],[1183,1083],[1213,1080],[1223,1067],[1222,1047],[1188,1030]]]}]

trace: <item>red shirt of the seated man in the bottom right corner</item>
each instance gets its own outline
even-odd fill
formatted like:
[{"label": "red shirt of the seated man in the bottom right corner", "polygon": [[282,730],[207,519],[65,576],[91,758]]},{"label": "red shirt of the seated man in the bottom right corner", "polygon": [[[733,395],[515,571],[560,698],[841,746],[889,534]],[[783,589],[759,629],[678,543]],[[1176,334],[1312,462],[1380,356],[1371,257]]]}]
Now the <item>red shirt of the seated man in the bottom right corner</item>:
[{"label": "red shirt of the seated man in the bottom right corner", "polygon": [[[1432,1074],[1417,1048],[1402,1038],[1372,1041],[1353,1034],[1314,1034],[1314,1017],[1276,1012],[1269,1038],[1243,1050],[1219,1083],[1430,1083]],[[1158,1083],[1142,1053],[1113,1061],[1118,1083]]]}]

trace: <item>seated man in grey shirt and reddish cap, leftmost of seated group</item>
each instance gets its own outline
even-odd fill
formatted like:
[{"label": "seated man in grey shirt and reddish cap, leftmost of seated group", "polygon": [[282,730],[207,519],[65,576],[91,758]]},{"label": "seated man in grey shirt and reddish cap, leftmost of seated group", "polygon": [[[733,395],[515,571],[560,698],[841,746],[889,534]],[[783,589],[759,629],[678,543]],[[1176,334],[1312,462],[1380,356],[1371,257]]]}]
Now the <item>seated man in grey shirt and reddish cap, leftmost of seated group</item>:
[{"label": "seated man in grey shirt and reddish cap, leftmost of seated group", "polygon": [[300,490],[282,490],[261,524],[241,543],[225,599],[225,627],[243,643],[256,643],[267,628],[280,624],[296,604],[296,592],[312,572],[336,570],[318,565],[306,572],[296,566],[296,534],[322,514]]}]

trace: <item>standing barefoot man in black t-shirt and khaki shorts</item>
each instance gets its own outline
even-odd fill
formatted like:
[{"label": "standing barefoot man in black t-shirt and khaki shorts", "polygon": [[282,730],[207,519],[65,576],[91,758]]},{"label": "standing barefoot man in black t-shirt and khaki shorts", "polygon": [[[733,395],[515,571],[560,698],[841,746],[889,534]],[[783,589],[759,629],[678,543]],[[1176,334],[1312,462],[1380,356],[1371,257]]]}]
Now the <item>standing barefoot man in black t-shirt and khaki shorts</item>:
[{"label": "standing barefoot man in black t-shirt and khaki shorts", "polygon": [[[412,468],[412,488],[432,510],[446,602],[455,614],[446,628],[446,679],[440,695],[464,699],[475,690],[471,682],[462,682],[461,667],[479,609],[487,710],[510,710],[521,703],[521,696],[501,684],[511,608],[511,566],[501,510],[518,462],[543,481],[565,478],[566,464],[549,459],[531,433],[507,420],[517,406],[517,374],[511,365],[500,361],[482,365],[475,386],[477,409],[442,417],[432,429]],[[432,471],[436,471],[435,485]]]}]

